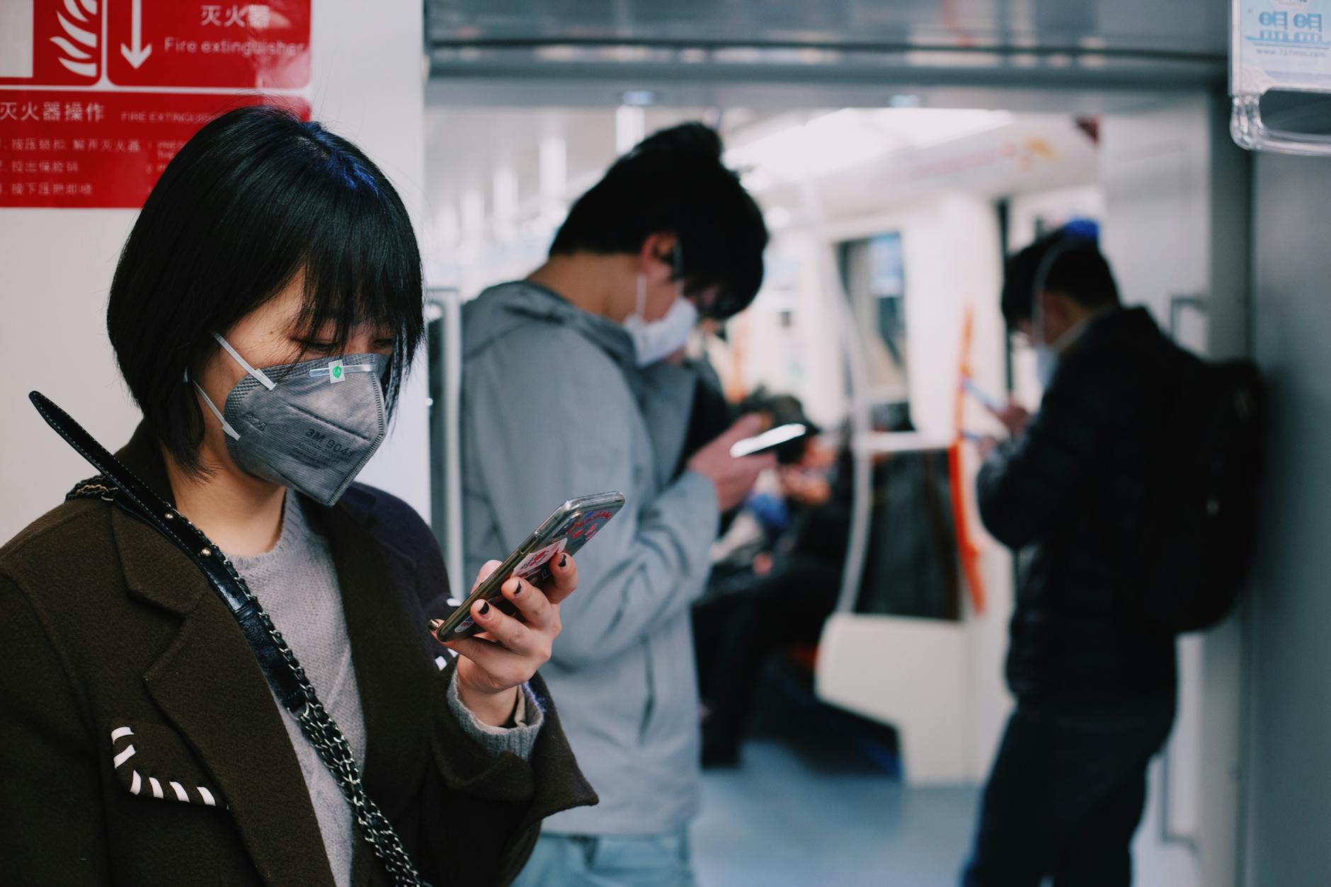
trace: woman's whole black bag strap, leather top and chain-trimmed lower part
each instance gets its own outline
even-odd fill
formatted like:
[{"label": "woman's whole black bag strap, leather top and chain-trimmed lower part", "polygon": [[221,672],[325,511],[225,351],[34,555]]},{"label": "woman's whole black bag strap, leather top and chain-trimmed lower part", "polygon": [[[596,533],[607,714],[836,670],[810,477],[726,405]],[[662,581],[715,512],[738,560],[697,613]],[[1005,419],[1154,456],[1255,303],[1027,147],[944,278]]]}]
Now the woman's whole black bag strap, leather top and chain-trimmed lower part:
[{"label": "woman's whole black bag strap, leather top and chain-trimmed lower part", "polygon": [[208,577],[209,583],[226,603],[232,615],[236,617],[245,639],[254,651],[254,658],[258,659],[258,665],[264,670],[264,677],[273,687],[274,695],[295,717],[301,733],[305,734],[323,766],[337,780],[342,795],[351,804],[351,814],[359,826],[361,835],[370,842],[374,855],[383,862],[394,884],[398,887],[429,887],[417,872],[411,855],[393,828],[393,823],[366,792],[365,783],[361,780],[361,767],[351,755],[351,747],[342,730],[323,709],[313,685],[305,677],[305,670],[295,659],[295,654],[286,646],[286,641],[282,639],[281,633],[264,611],[258,598],[250,593],[245,579],[226,559],[226,555],[184,514],[134,477],[133,471],[93,440],[68,413],[40,392],[32,392],[28,398],[37,408],[41,418],[47,420],[47,424],[65,438],[69,446],[101,471],[97,477],[76,486],[69,497],[98,495],[116,502],[129,514],[170,539],[194,562]]}]

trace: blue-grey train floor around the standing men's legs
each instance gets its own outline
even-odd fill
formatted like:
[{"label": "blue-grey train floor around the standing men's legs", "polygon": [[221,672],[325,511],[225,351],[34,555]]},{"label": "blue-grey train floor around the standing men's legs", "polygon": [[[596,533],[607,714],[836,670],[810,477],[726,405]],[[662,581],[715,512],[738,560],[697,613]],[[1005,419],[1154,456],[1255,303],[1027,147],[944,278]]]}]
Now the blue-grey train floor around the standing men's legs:
[{"label": "blue-grey train floor around the standing men's legs", "polygon": [[[769,667],[740,766],[704,771],[689,832],[699,887],[956,887],[980,786],[906,786],[865,726]],[[1149,784],[1161,784],[1158,762]],[[1134,883],[1201,883],[1191,852],[1161,840],[1158,815],[1151,804],[1138,828]]]}]

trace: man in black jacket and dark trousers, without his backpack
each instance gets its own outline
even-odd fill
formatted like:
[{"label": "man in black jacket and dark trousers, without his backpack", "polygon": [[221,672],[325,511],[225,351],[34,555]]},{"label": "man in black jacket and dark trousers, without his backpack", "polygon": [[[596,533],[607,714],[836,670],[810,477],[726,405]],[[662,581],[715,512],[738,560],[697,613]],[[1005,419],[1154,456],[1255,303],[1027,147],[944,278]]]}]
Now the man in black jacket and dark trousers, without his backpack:
[{"label": "man in black jacket and dark trousers, without his backpack", "polygon": [[1040,410],[980,449],[985,527],[1018,555],[1008,683],[1017,709],[981,802],[966,887],[1131,883],[1146,767],[1175,709],[1173,634],[1127,606],[1130,551],[1165,451],[1170,348],[1119,304],[1094,233],[1009,258],[1004,316],[1037,349]]}]

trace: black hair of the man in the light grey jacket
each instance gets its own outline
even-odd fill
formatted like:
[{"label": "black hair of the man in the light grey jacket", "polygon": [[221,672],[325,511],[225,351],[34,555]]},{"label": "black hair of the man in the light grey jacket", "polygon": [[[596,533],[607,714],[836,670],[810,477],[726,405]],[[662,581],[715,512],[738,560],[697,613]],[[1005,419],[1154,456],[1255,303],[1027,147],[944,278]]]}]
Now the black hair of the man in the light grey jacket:
[{"label": "black hair of the man in the light grey jacket", "polygon": [[616,160],[574,204],[550,254],[636,253],[659,233],[679,238],[685,293],[719,288],[703,306],[709,317],[731,317],[757,296],[763,212],[721,162],[720,136],[700,123],[652,133]]}]

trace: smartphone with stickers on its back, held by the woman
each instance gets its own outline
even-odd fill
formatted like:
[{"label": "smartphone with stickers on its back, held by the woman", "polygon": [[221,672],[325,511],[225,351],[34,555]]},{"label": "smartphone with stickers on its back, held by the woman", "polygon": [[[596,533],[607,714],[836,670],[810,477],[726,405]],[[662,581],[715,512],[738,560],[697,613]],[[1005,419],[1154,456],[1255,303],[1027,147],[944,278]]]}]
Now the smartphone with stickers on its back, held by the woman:
[{"label": "smartphone with stickers on its back, held by the woman", "polygon": [[480,627],[471,618],[471,605],[482,598],[514,615],[516,607],[500,594],[503,583],[518,577],[539,587],[550,579],[550,565],[555,558],[574,554],[587,545],[622,507],[624,497],[619,493],[583,495],[560,505],[443,621],[437,637],[466,638],[476,634]]}]

